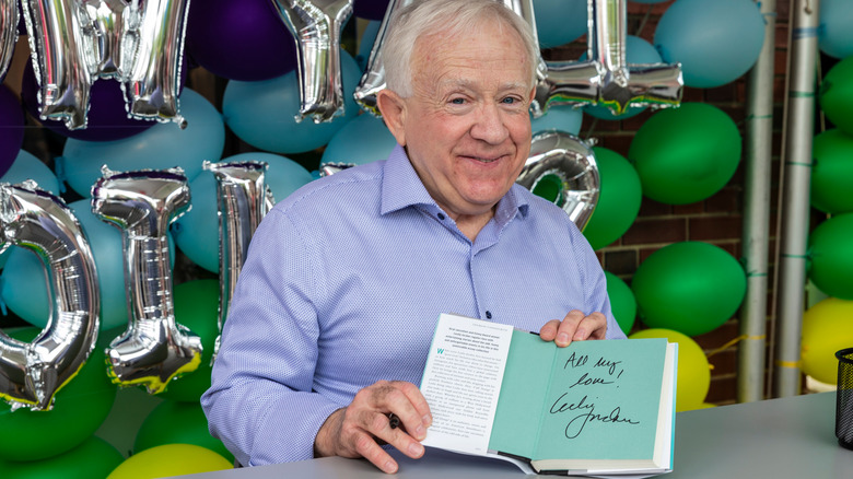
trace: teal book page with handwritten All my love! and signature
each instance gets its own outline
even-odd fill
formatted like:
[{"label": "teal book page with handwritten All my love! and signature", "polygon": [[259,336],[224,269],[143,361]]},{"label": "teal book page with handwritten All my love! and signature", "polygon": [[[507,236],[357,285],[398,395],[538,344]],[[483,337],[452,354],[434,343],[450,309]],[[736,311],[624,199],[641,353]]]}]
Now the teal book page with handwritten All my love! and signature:
[{"label": "teal book page with handwritten All my love! and signature", "polygon": [[652,458],[666,344],[648,338],[556,348],[533,459]]}]

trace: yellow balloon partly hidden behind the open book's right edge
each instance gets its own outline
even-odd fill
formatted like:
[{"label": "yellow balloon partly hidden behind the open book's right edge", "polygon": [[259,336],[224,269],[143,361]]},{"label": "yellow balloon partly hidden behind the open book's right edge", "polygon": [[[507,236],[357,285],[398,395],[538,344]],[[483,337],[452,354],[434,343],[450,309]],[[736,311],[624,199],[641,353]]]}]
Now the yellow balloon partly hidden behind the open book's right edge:
[{"label": "yellow balloon partly hidden behind the open book's right edge", "polygon": [[677,342],[676,411],[702,407],[711,387],[711,366],[704,351],[692,338],[664,328],[643,329],[629,338],[666,338],[669,342]]}]

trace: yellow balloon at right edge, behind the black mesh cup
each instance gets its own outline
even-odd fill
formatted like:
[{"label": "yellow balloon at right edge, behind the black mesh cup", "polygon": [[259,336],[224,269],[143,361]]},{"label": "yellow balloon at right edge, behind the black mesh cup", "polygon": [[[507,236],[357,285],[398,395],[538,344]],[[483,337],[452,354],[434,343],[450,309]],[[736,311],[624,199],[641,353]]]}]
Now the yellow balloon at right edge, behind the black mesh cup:
[{"label": "yellow balloon at right edge, behind the black mesh cup", "polygon": [[815,379],[838,383],[836,351],[853,348],[853,301],[827,297],[803,314],[803,372]]}]

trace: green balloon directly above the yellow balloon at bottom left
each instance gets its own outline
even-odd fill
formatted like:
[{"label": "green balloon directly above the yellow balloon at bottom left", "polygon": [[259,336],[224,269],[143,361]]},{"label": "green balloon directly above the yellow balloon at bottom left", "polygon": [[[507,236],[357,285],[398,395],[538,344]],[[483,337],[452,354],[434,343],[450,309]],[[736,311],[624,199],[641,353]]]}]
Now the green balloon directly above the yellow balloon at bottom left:
[{"label": "green balloon directly above the yellow balloon at bottom left", "polygon": [[234,455],[222,441],[210,435],[201,405],[163,401],[155,407],[137,432],[133,452],[139,453],[165,444],[192,444],[234,462]]}]

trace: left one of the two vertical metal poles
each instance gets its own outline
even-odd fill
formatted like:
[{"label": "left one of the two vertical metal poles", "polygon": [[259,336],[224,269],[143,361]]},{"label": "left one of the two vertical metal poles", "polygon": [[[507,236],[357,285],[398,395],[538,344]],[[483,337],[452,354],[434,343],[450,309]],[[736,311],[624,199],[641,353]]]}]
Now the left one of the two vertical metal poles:
[{"label": "left one of the two vertical metal poles", "polygon": [[773,60],[776,1],[757,0],[764,17],[764,44],[749,73],[747,97],[744,258],[747,293],[740,307],[737,400],[764,399],[767,276],[770,230],[770,165],[773,143]]}]

